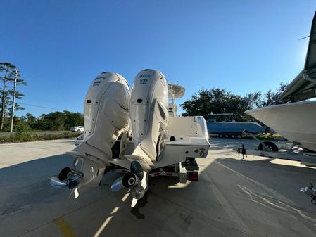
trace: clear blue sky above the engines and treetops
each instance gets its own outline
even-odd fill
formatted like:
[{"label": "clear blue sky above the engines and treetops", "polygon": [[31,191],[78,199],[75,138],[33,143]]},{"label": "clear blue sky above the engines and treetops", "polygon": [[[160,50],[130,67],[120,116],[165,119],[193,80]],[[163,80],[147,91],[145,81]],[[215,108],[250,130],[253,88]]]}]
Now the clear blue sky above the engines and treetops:
[{"label": "clear blue sky above the engines and treetops", "polygon": [[1,0],[0,61],[27,82],[17,115],[82,112],[103,71],[132,87],[137,72],[158,69],[187,88],[179,103],[201,88],[265,92],[303,69],[308,39],[298,39],[310,34],[315,8],[312,0]]}]

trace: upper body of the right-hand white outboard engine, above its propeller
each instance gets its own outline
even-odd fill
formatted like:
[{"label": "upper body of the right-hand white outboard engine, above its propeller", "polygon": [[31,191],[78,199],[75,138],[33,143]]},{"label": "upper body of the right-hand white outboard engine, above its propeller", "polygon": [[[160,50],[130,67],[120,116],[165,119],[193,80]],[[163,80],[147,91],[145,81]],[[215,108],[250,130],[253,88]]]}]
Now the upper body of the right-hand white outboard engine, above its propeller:
[{"label": "upper body of the right-hand white outboard engine, above its propeller", "polygon": [[132,87],[129,102],[134,151],[126,155],[129,160],[138,160],[148,172],[156,162],[156,146],[168,124],[168,84],[158,70],[142,70]]}]

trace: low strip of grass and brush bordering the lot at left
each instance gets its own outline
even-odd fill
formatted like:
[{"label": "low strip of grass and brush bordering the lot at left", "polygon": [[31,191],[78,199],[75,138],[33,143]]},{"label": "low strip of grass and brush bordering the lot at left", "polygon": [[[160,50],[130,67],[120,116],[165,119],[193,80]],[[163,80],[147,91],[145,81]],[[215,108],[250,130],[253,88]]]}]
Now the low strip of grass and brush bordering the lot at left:
[{"label": "low strip of grass and brush bordering the lot at left", "polygon": [[0,136],[0,143],[70,139],[77,136],[79,136],[79,134],[74,132],[62,132],[60,134],[31,134],[30,132],[17,132],[10,136]]}]

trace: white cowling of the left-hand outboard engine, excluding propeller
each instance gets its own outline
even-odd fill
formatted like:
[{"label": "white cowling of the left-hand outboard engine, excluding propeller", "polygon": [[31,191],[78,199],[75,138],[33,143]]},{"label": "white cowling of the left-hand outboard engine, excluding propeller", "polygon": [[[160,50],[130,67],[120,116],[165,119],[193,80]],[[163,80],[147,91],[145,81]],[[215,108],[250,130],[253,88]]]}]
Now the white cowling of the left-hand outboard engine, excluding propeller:
[{"label": "white cowling of the left-hand outboard engine, excluding propeller", "polygon": [[[103,72],[96,77],[84,101],[84,141],[74,151],[94,155],[90,150],[96,148],[105,156],[99,158],[112,160],[111,147],[129,123],[129,97],[129,85],[118,73]],[[87,146],[93,148],[87,150]]]}]

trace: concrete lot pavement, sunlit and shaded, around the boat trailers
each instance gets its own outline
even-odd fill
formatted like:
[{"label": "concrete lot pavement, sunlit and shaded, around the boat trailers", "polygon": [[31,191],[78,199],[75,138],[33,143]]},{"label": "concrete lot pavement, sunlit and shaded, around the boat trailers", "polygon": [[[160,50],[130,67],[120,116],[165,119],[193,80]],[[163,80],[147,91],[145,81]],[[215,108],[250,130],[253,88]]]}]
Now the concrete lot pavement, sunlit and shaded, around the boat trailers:
[{"label": "concrete lot pavement, sunlit and shaded, around the boat trailers", "polygon": [[[212,139],[208,158],[198,159],[198,183],[158,177],[133,209],[129,193],[110,191],[115,174],[99,188],[81,190],[77,200],[50,186],[51,175],[72,162],[62,153],[73,148],[70,141],[41,143],[58,152],[42,158],[37,143],[1,145],[0,162],[8,157],[5,149],[17,160],[0,169],[0,236],[316,236],[316,205],[299,192],[315,181],[316,169],[241,160],[232,151],[241,141],[255,146],[252,140]],[[25,155],[20,162],[25,147],[38,158]]]}]

